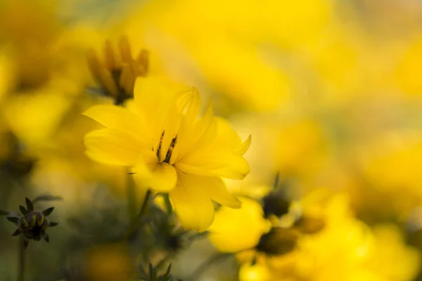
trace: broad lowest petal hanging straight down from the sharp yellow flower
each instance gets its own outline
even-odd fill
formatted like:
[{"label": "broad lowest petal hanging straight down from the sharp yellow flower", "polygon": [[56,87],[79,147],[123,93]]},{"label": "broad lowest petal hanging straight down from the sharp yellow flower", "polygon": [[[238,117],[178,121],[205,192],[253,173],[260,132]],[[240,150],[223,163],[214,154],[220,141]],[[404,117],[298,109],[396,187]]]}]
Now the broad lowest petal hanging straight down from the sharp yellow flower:
[{"label": "broad lowest petal hanging straight down from the sharp yellow flower", "polygon": [[210,197],[198,188],[191,176],[177,174],[177,188],[170,192],[174,211],[185,229],[206,230],[214,218],[214,205]]}]

